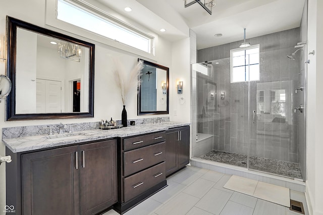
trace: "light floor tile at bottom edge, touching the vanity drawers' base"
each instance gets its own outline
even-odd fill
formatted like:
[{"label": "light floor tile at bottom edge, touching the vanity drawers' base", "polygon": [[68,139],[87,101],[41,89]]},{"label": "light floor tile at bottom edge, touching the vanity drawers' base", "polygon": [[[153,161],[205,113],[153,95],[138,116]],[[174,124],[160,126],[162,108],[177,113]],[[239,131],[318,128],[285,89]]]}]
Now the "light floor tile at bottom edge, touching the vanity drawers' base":
[{"label": "light floor tile at bottom edge, touching the vanity drawers' base", "polygon": [[143,215],[143,214],[152,214],[159,206],[161,206],[160,202],[157,202],[153,199],[146,199],[134,208],[125,212],[125,215]]}]

